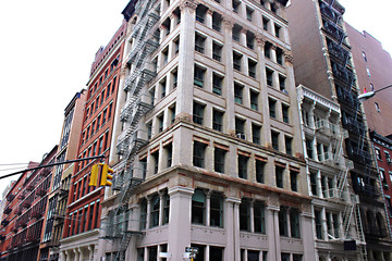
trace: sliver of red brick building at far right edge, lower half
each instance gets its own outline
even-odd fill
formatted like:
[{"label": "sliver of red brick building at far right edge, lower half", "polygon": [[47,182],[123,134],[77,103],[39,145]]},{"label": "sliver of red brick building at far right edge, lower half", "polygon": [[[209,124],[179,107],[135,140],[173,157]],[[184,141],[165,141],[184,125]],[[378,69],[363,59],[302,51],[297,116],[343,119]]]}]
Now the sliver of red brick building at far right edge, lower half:
[{"label": "sliver of red brick building at far right edge, lower half", "polygon": [[[389,233],[392,234],[392,137],[384,137],[377,132],[371,132],[370,135],[380,173],[380,187],[382,187],[382,196],[385,200],[385,212],[389,216],[388,228]],[[375,222],[378,222],[377,216]]]}]

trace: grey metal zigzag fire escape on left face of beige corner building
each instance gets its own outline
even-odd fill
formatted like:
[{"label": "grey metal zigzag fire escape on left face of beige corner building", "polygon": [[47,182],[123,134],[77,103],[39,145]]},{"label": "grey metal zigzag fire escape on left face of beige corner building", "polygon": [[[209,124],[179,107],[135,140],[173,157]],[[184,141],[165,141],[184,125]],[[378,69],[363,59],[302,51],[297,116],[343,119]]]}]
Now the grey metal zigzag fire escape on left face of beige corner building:
[{"label": "grey metal zigzag fire escape on left face of beige corner building", "polygon": [[[106,239],[113,240],[117,245],[114,260],[125,260],[125,250],[133,235],[142,233],[128,229],[127,202],[134,191],[145,178],[145,169],[139,174],[135,164],[135,156],[140,147],[149,139],[149,133],[138,128],[139,120],[152,109],[154,99],[142,89],[156,75],[154,64],[149,62],[150,54],[159,46],[159,36],[152,34],[159,15],[155,12],[156,1],[138,1],[135,7],[137,22],[133,27],[131,38],[133,45],[127,58],[131,65],[130,76],[125,79],[124,90],[127,92],[125,104],[121,109],[120,120],[126,124],[126,128],[119,135],[117,148],[122,156],[119,164],[113,190],[119,190],[114,201],[114,209],[108,214],[106,224]],[[137,174],[136,174],[137,173]]]}]

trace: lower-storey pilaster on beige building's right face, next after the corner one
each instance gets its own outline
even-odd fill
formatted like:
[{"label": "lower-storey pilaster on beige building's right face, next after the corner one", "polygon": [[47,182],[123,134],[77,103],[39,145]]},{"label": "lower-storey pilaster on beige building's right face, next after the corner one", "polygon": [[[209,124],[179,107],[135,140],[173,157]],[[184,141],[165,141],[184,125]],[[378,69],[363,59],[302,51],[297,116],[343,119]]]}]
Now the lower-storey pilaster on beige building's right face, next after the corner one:
[{"label": "lower-storey pilaster on beige building's right face, next after the corner one", "polygon": [[240,212],[241,199],[226,198],[224,202],[224,224],[226,231],[226,247],[224,248],[224,261],[240,261]]}]

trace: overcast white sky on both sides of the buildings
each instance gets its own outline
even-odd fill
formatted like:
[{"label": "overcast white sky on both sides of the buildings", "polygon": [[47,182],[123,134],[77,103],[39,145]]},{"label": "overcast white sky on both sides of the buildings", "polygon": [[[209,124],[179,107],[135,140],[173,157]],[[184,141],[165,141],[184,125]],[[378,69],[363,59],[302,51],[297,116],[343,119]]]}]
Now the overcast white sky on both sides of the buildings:
[{"label": "overcast white sky on both sides of the buildings", "polygon": [[[0,175],[16,171],[1,171],[15,167],[4,164],[39,162],[59,142],[64,109],[86,86],[95,53],[120,27],[127,2],[0,1]],[[346,22],[392,52],[391,0],[340,2]],[[0,181],[0,192],[9,181]]]}]

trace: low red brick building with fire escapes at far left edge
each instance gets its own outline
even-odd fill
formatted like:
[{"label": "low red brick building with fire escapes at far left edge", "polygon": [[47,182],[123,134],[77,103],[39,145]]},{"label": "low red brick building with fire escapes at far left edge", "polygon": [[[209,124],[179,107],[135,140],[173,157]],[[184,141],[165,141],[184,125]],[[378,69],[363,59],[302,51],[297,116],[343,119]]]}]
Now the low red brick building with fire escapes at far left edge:
[{"label": "low red brick building with fire escapes at far left edge", "polygon": [[[54,161],[58,146],[44,156],[40,165]],[[30,162],[27,167],[38,163]],[[53,167],[23,173],[7,195],[2,227],[1,260],[36,261],[44,233],[44,219]]]}]

